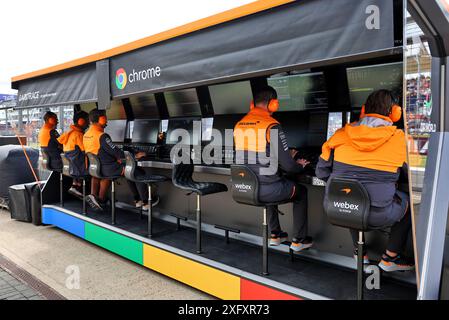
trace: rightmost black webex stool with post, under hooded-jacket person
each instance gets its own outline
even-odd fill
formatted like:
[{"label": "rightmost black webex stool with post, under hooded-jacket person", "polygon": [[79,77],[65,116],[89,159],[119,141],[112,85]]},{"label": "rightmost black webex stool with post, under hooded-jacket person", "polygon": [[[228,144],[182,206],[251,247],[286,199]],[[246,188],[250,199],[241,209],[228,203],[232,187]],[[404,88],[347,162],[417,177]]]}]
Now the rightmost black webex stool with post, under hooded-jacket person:
[{"label": "rightmost black webex stool with post, under hooded-jacket person", "polygon": [[357,230],[357,299],[363,299],[363,233],[368,231],[371,202],[365,187],[357,180],[331,178],[328,181],[324,211],[333,225]]}]

